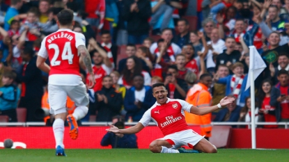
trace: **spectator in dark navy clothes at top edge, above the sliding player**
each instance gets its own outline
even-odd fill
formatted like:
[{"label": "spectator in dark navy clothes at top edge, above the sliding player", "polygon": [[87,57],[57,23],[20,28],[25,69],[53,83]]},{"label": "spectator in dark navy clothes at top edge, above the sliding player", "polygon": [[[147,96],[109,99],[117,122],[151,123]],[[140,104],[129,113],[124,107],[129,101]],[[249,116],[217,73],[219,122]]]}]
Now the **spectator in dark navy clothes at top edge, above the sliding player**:
[{"label": "spectator in dark navy clothes at top edge, above the sliding player", "polygon": [[150,1],[125,1],[123,16],[127,20],[128,43],[142,44],[143,40],[148,38],[148,19],[151,15]]}]

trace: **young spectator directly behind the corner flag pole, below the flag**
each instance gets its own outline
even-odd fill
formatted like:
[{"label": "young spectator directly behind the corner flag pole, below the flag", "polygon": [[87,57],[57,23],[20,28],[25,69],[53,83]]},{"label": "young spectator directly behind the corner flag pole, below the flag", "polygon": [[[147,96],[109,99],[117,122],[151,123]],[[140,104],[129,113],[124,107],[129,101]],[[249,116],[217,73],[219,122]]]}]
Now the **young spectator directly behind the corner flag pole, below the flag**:
[{"label": "young spectator directly behind the corner flag pole, below the flag", "polygon": [[[238,122],[251,122],[251,97],[247,97],[245,100],[246,104],[240,111],[240,118]],[[255,104],[256,105],[256,104]],[[259,108],[255,106],[255,122],[259,120]],[[238,128],[247,128],[247,125],[238,125]]]}]

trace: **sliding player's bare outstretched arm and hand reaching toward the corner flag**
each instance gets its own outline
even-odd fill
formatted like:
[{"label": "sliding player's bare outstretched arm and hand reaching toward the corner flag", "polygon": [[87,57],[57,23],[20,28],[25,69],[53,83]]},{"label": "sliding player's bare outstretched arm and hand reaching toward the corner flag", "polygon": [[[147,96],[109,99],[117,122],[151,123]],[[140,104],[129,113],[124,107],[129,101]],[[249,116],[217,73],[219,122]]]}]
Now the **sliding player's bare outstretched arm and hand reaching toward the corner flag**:
[{"label": "sliding player's bare outstretched arm and hand reaching toward the corner flag", "polygon": [[[235,98],[233,97],[224,97],[220,101],[221,107],[227,106],[228,104],[231,104],[235,101]],[[196,115],[205,115],[207,113],[212,113],[213,111],[216,111],[219,107],[217,105],[205,107],[205,108],[197,108],[195,106],[192,106],[190,113],[194,113]]]}]

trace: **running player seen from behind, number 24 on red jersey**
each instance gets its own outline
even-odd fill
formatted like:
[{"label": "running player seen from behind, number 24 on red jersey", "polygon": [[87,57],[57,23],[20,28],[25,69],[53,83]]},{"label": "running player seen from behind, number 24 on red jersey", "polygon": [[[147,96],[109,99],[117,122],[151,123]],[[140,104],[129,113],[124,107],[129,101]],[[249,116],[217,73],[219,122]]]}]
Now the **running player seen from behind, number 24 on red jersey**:
[{"label": "running player seen from behind, number 24 on red jersey", "polygon": [[[89,99],[79,73],[79,57],[91,76],[88,88],[93,88],[95,79],[84,35],[72,31],[74,25],[72,10],[61,10],[57,18],[59,30],[42,40],[36,64],[40,70],[49,73],[48,99],[50,113],[55,115],[53,131],[56,140],[56,156],[65,156],[63,145],[65,119],[70,126],[70,137],[75,140],[78,136],[77,120],[84,118],[88,112]],[[45,63],[47,58],[50,60],[50,67]],[[68,116],[66,116],[65,106],[67,96],[77,106],[75,112]]]}]

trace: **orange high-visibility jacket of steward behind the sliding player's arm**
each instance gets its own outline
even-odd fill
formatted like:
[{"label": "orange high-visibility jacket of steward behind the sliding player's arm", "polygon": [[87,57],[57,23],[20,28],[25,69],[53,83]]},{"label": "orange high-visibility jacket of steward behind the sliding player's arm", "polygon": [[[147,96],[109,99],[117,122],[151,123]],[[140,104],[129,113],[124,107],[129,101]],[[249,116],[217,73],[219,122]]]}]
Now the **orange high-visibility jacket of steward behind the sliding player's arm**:
[{"label": "orange high-visibility jacket of steward behind the sliding player's arm", "polygon": [[[208,107],[211,105],[212,96],[208,91],[208,87],[202,83],[194,85],[189,92],[187,92],[186,102],[198,108]],[[206,115],[195,115],[185,112],[185,119],[187,124],[196,124],[201,126],[201,136],[210,137],[212,131],[211,125],[212,113]]]}]

